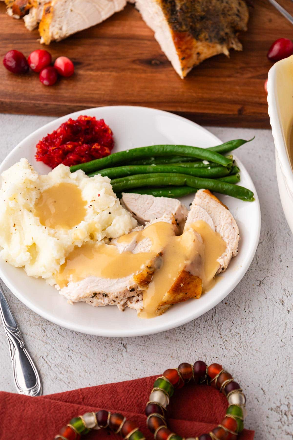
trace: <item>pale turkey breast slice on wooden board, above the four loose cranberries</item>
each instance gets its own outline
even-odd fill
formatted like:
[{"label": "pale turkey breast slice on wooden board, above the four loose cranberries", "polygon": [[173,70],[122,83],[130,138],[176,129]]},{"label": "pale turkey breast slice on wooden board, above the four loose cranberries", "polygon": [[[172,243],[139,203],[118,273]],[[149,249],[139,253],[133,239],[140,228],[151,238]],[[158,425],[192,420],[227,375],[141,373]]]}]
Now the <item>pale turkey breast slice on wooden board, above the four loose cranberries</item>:
[{"label": "pale turkey breast slice on wooden board, above the four loose cranberries", "polygon": [[121,11],[127,0],[51,0],[43,7],[41,43],[50,44],[103,22]]}]

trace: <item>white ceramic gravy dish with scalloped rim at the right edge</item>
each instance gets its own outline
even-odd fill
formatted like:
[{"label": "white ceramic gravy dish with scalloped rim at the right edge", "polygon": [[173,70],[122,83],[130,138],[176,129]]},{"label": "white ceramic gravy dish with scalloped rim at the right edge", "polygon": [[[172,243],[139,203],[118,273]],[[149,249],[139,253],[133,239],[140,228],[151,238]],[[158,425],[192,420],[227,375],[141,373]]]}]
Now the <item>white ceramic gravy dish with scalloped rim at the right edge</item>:
[{"label": "white ceramic gravy dish with scalloped rim at the right edge", "polygon": [[293,169],[289,160],[293,125],[293,55],[276,62],[268,73],[268,114],[276,147],[280,198],[293,232]]}]

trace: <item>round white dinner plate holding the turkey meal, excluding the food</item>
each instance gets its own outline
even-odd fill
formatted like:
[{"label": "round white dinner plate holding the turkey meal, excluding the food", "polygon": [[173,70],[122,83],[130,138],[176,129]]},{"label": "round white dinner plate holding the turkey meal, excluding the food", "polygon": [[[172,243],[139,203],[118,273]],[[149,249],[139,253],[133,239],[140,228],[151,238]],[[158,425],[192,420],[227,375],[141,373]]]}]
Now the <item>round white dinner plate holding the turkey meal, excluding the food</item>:
[{"label": "round white dinner plate holding the turkey meal, excluding the food", "polygon": [[[50,122],[36,130],[18,144],[0,165],[0,173],[21,158],[27,158],[39,173],[47,173],[49,167],[36,162],[36,143],[58,128],[69,117],[80,114],[104,118],[115,135],[115,151],[159,143],[179,143],[199,147],[210,147],[221,143],[219,139],[199,125],[161,110],[133,106],[110,106],[83,110]],[[26,275],[21,268],[14,268],[0,261],[0,276],[26,306],[49,321],[79,332],[99,336],[140,336],[169,330],[197,318],[210,310],[230,293],[242,279],[250,266],[260,235],[260,205],[253,182],[242,165],[241,184],[254,192],[255,202],[220,196],[235,216],[239,226],[241,242],[239,255],[232,259],[228,270],[208,293],[199,300],[190,300],[170,308],[164,315],[153,319],[139,319],[134,310],[119,312],[115,306],[94,308],[85,303],[67,304],[64,297],[43,279]],[[192,196],[183,198],[186,206]],[[241,298],[239,298],[241,301]]]}]

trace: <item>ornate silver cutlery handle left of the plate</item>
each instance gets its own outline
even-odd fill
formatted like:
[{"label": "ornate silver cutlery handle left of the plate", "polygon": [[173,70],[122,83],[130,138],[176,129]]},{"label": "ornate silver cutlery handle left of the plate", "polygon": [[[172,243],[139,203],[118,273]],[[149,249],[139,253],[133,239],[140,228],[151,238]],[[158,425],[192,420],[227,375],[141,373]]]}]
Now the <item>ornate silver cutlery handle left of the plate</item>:
[{"label": "ornate silver cutlery handle left of the plate", "polygon": [[0,315],[7,337],[12,362],[13,378],[19,394],[40,396],[43,392],[42,381],[33,359],[25,348],[22,334],[4,296],[0,284]]}]

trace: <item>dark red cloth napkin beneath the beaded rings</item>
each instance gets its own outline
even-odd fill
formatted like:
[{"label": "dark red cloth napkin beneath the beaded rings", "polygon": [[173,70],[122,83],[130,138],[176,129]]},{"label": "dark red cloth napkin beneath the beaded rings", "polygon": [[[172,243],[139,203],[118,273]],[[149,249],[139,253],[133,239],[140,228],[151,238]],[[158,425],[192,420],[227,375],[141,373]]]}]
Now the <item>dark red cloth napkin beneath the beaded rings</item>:
[{"label": "dark red cloth napkin beneath the beaded rings", "polygon": [[[41,397],[0,392],[0,439],[53,440],[71,418],[105,409],[121,412],[137,423],[147,440],[153,440],[146,427],[144,411],[156,377]],[[227,400],[220,392],[210,386],[189,384],[177,390],[170,400],[168,426],[183,437],[199,436],[221,423],[226,409]],[[254,431],[244,429],[239,440],[253,440],[253,437]],[[101,429],[84,438],[106,440],[109,434]],[[112,438],[119,437],[112,434]]]}]

